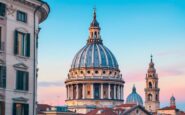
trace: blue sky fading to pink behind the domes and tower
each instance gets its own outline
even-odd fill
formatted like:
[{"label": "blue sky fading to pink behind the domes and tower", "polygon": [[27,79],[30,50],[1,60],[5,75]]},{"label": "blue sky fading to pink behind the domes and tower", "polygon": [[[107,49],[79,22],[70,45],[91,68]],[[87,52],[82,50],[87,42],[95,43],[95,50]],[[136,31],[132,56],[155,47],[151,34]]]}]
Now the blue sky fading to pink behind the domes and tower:
[{"label": "blue sky fading to pink behind the domes and tower", "polygon": [[145,76],[153,55],[159,76],[161,107],[172,95],[185,111],[184,0],[45,0],[51,8],[40,26],[38,101],[64,105],[74,55],[86,44],[96,7],[103,43],[115,55],[124,99],[133,84],[144,98]]}]

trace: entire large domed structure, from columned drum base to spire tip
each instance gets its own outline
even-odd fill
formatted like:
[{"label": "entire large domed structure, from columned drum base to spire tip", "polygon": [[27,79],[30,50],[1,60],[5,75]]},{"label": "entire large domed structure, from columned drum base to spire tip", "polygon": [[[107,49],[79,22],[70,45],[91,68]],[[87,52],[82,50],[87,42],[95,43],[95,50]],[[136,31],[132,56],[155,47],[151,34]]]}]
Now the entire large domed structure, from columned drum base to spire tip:
[{"label": "entire large domed structure, from columned drum base to spire tip", "polygon": [[116,58],[103,45],[96,11],[87,44],[74,57],[65,84],[66,104],[77,113],[123,103],[124,80]]}]

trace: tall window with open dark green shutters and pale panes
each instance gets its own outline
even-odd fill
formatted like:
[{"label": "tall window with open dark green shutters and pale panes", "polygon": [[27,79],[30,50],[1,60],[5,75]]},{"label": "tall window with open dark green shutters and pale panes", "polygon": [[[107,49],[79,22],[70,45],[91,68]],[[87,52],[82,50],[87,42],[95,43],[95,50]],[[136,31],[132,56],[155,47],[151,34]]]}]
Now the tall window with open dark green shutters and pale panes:
[{"label": "tall window with open dark green shutters and pale panes", "polygon": [[30,57],[30,34],[15,31],[14,54]]}]

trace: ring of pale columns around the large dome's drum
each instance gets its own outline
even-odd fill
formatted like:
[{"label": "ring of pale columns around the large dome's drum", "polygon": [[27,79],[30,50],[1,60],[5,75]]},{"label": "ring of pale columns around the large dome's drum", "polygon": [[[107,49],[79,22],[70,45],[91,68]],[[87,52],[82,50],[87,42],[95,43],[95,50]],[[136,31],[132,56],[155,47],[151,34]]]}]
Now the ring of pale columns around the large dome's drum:
[{"label": "ring of pale columns around the large dome's drum", "polygon": [[66,85],[67,100],[123,100],[122,84],[79,83]]}]

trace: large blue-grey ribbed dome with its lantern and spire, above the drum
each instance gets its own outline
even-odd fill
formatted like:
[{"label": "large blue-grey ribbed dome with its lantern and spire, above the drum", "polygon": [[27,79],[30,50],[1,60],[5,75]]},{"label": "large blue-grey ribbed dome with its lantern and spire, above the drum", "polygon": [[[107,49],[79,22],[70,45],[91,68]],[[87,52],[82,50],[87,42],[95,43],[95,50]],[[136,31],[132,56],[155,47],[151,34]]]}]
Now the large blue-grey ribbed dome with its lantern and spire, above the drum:
[{"label": "large blue-grey ribbed dome with its lantern and spire, above the drum", "polygon": [[112,52],[103,45],[100,36],[99,23],[96,20],[94,11],[91,22],[90,36],[87,44],[75,55],[71,68],[113,68],[118,69],[118,63]]}]

